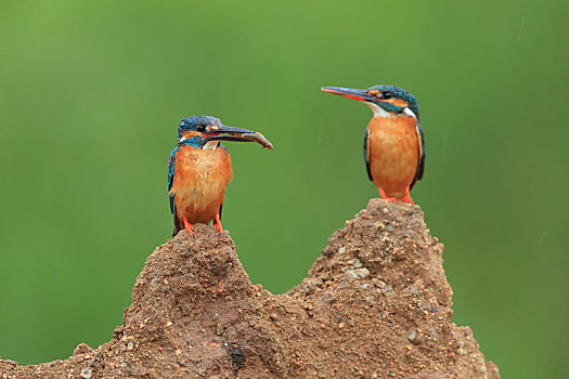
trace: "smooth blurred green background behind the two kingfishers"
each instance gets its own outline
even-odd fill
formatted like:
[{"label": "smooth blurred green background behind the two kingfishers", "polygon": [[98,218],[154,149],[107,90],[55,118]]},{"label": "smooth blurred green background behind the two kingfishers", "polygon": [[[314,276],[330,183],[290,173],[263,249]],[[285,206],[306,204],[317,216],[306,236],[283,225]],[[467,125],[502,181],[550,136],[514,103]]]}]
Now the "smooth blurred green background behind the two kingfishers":
[{"label": "smooth blurred green background behind the two kingfishers", "polygon": [[0,2],[0,356],[112,338],[171,232],[166,159],[183,116],[261,131],[228,143],[223,226],[284,292],[377,197],[371,112],[321,86],[419,101],[413,197],[447,246],[454,321],[504,378],[569,369],[564,1]]}]

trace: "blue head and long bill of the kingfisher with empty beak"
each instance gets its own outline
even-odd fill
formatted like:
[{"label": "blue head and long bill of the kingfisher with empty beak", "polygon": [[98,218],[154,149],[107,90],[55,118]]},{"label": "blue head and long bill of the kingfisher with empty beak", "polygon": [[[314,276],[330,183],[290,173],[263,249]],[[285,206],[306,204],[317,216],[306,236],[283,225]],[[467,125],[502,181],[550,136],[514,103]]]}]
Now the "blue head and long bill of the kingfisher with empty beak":
[{"label": "blue head and long bill of the kingfisher with empty beak", "polygon": [[395,86],[374,86],[366,90],[341,87],[322,87],[322,91],[367,104],[375,116],[411,116],[418,119],[417,100],[408,91]]}]

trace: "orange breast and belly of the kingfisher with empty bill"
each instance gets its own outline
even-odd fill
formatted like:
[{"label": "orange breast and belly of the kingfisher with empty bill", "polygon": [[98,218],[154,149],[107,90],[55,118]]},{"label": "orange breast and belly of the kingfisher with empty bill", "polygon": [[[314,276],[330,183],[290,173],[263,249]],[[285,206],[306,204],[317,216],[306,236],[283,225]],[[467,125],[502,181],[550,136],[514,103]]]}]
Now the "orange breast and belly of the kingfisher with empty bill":
[{"label": "orange breast and belly of the kingfisher with empty bill", "polygon": [[367,126],[367,159],[375,186],[402,198],[417,172],[421,142],[413,117],[374,117]]}]

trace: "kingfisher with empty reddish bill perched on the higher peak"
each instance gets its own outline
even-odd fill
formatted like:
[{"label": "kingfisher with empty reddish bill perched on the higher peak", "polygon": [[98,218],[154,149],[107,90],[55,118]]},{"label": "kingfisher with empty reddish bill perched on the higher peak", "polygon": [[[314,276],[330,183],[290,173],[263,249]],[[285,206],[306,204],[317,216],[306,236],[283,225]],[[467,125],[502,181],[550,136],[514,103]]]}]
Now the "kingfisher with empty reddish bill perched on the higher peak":
[{"label": "kingfisher with empty reddish bill perched on the higher peak", "polygon": [[425,170],[425,138],[415,97],[395,86],[366,90],[322,87],[322,91],[358,100],[372,108],[374,117],[363,136],[367,177],[384,199],[413,204],[409,193]]}]

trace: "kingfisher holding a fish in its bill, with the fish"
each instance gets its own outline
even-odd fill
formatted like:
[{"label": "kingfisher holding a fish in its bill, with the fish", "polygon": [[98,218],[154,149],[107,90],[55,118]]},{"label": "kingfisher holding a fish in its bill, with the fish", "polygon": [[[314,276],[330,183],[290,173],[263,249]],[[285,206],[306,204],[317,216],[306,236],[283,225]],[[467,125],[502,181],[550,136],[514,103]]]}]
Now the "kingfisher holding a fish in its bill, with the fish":
[{"label": "kingfisher holding a fish in its bill, with the fish", "polygon": [[190,116],[180,121],[178,145],[168,158],[168,195],[173,214],[172,237],[185,227],[193,235],[192,224],[214,225],[219,233],[225,188],[233,179],[228,148],[220,141],[272,144],[261,133],[228,127],[211,116]]}]

